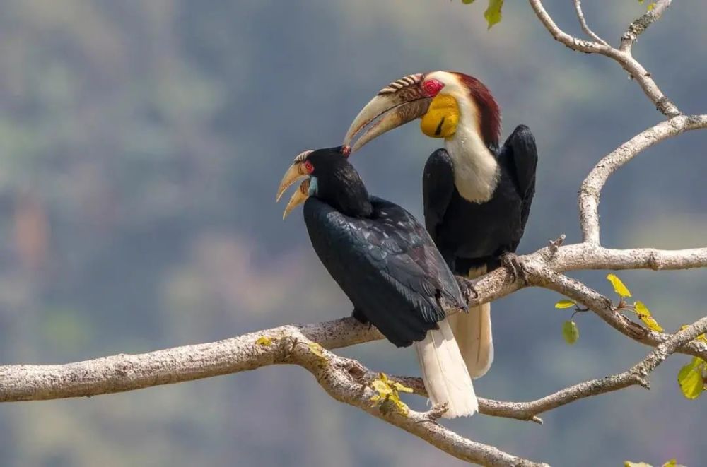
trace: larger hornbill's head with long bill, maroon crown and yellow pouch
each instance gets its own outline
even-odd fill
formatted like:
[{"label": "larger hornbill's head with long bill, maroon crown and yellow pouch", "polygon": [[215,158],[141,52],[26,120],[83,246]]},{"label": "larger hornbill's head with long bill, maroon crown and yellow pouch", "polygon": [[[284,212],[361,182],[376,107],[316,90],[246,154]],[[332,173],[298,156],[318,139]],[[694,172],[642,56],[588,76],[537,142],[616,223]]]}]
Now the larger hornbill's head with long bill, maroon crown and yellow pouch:
[{"label": "larger hornbill's head with long bill, maroon crown and yellow pouch", "polygon": [[416,118],[421,118],[421,131],[431,138],[453,139],[464,125],[477,132],[487,147],[498,147],[501,114],[496,100],[477,78],[455,71],[416,73],[382,88],[351,123],[344,146],[353,153]]}]

